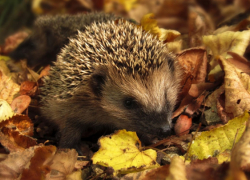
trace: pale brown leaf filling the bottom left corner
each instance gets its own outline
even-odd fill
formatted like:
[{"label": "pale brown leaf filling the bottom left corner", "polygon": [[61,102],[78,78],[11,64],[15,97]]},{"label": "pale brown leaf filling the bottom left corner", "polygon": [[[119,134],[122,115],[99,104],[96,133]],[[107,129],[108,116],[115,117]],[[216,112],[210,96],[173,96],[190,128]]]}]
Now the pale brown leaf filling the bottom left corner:
[{"label": "pale brown leaf filling the bottom left corner", "polygon": [[39,148],[39,146],[11,152],[5,160],[0,162],[0,179],[17,179],[34,156],[36,148]]}]

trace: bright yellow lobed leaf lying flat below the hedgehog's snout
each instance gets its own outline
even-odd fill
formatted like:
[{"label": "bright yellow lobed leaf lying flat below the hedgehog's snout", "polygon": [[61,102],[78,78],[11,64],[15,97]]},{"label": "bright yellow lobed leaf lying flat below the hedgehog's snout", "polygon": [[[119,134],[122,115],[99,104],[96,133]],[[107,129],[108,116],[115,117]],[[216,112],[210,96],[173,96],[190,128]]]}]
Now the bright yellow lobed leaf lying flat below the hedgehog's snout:
[{"label": "bright yellow lobed leaf lying flat below the hedgehog's snout", "polygon": [[141,142],[135,132],[119,130],[110,137],[100,138],[99,143],[101,147],[92,157],[93,163],[112,167],[115,173],[125,174],[159,166],[156,151],[138,149]]}]

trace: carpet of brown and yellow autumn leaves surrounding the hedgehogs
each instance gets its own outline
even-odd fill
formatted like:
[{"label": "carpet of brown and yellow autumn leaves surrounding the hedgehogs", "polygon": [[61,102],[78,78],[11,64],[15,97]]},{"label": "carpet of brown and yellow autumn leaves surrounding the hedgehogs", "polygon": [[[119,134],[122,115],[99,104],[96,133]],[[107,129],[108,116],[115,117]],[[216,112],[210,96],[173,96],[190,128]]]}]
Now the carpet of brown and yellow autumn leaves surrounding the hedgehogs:
[{"label": "carpet of brown and yellow autumn leaves surrounding the hedgehogs", "polygon": [[[38,118],[39,86],[49,66],[35,72],[22,64],[25,74],[17,75],[5,65],[8,54],[28,36],[22,31],[6,37],[0,46],[0,142],[5,148],[0,149],[5,154],[1,178],[249,179],[250,3],[41,1],[50,8],[35,0],[34,13],[99,8],[141,22],[145,31],[163,41],[183,69],[180,101],[173,115],[176,136],[144,147],[135,132],[120,130],[100,138],[98,151],[95,143],[93,151],[81,147],[86,156],[73,149],[58,150],[50,127]],[[184,138],[187,135],[192,139]]]}]

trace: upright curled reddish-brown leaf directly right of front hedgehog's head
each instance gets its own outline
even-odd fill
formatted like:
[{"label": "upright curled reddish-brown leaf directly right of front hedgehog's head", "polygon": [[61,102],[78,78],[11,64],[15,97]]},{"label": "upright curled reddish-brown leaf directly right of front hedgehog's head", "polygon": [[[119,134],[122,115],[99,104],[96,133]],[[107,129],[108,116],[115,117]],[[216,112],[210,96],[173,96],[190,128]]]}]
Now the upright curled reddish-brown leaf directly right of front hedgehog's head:
[{"label": "upright curled reddish-brown leaf directly right of front hedgehog's head", "polygon": [[183,99],[192,84],[205,82],[207,75],[207,55],[206,50],[202,48],[191,48],[182,51],[177,60],[183,71],[182,90],[179,99]]}]

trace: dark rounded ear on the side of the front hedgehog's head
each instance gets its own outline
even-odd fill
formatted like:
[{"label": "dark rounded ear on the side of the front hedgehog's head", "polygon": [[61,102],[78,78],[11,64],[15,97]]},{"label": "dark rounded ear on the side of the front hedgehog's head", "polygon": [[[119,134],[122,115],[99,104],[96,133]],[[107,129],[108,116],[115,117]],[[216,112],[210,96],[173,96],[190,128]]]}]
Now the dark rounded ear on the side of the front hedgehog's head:
[{"label": "dark rounded ear on the side of the front hedgehog's head", "polygon": [[96,96],[102,96],[102,89],[103,85],[106,81],[106,69],[105,68],[98,68],[95,72],[91,75],[91,82],[90,86],[95,93]]}]

